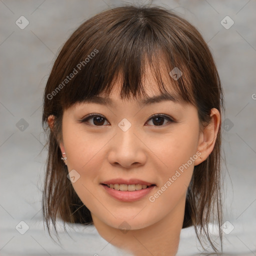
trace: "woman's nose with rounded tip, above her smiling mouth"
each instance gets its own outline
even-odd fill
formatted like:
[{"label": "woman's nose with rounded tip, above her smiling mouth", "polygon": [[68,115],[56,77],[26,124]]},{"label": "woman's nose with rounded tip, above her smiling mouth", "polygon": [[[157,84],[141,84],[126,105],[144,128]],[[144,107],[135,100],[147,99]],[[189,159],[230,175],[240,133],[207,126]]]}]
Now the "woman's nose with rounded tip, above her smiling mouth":
[{"label": "woman's nose with rounded tip, above her smiling mouth", "polygon": [[143,139],[132,126],[123,131],[117,128],[117,134],[110,143],[108,161],[112,165],[132,168],[146,162],[146,146]]}]

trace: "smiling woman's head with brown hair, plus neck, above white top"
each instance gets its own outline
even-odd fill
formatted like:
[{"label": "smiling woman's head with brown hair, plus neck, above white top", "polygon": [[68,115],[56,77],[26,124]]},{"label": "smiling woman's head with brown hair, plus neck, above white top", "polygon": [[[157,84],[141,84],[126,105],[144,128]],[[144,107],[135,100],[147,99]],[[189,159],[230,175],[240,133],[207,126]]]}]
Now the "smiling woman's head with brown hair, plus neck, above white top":
[{"label": "smiling woman's head with brown hair, plus neck, above white top", "polygon": [[216,251],[208,223],[221,225],[221,108],[212,55],[186,20],[147,6],[86,20],[44,91],[48,231],[56,218],[94,224],[133,255],[169,256],[193,225]]}]

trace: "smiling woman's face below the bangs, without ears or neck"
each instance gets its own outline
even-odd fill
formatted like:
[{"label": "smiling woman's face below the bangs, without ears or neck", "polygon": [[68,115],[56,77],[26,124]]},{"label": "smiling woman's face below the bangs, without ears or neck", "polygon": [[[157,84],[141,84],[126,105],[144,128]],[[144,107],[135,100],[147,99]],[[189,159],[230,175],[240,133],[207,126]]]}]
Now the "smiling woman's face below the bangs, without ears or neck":
[{"label": "smiling woman's face below the bangs, without ears or neck", "polygon": [[[160,95],[150,73],[146,77],[148,97]],[[138,229],[174,211],[184,214],[193,167],[202,161],[199,120],[196,107],[169,92],[177,99],[122,100],[115,84],[111,104],[84,102],[64,111],[60,148],[92,218]]]}]

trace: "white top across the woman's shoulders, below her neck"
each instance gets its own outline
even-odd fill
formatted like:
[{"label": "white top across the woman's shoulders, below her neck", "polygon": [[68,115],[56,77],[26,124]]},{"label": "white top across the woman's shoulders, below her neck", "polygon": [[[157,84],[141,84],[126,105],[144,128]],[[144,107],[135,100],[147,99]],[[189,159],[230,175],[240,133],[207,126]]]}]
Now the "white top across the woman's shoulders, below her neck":
[{"label": "white top across the woman's shoulders, below her neck", "polygon": [[[37,214],[39,215],[39,214]],[[16,220],[9,218],[1,222],[0,231],[0,255],[83,255],[83,256],[120,256],[129,255],[114,247],[104,240],[97,232],[94,225],[84,226],[80,224],[66,225],[66,232],[63,223],[57,221],[57,230],[61,244],[54,243],[44,231],[40,216],[33,219],[24,219],[24,222],[16,223]],[[18,224],[18,225],[17,225]],[[26,230],[28,225],[28,229]],[[15,228],[16,227],[16,228]],[[212,226],[211,226],[212,227]],[[217,235],[216,230],[211,228],[211,233]],[[251,246],[255,242],[255,222],[248,223],[248,226],[241,226],[235,223],[232,229],[227,224],[226,233],[223,235],[223,255],[253,255]],[[19,230],[19,231],[18,231]],[[231,231],[230,231],[231,230]],[[25,231],[25,232],[24,232]],[[24,232],[21,234],[20,232]],[[70,235],[70,236],[69,236]],[[53,234],[56,242],[57,238]],[[216,236],[215,236],[216,237]],[[207,247],[207,246],[205,246]],[[251,250],[251,251],[250,251]],[[199,255],[203,250],[199,245],[193,227],[184,228],[180,233],[180,243],[177,256]],[[205,251],[204,251],[205,252]],[[209,250],[211,252],[211,250]],[[239,253],[239,254],[237,254]]]}]

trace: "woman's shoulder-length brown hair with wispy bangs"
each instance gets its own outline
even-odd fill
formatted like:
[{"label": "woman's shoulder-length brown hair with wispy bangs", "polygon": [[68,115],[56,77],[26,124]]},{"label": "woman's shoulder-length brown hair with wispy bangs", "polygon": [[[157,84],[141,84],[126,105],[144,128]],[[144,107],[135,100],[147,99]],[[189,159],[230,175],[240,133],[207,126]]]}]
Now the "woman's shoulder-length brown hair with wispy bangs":
[{"label": "woman's shoulder-length brown hair with wispy bangs", "polygon": [[[177,80],[169,76],[170,82],[184,101],[196,106],[202,126],[209,122],[211,108],[221,113],[222,89],[210,50],[197,29],[170,10],[155,6],[109,9],[82,23],[63,45],[45,87],[42,114],[43,126],[47,117],[54,115],[54,128],[48,133],[42,198],[49,233],[50,223],[56,231],[57,217],[64,222],[92,223],[90,211],[74,191],[67,167],[60,159],[63,110],[100,93],[109,95],[119,75],[121,98],[145,95],[141,79],[146,63],[160,92],[166,92],[160,75],[162,56],[169,71],[174,67],[182,71]],[[193,225],[199,241],[205,234],[216,251],[208,231],[211,217],[216,217],[222,250],[221,216],[219,127],[213,151],[194,167],[182,227]]]}]

